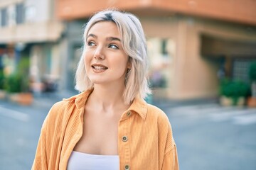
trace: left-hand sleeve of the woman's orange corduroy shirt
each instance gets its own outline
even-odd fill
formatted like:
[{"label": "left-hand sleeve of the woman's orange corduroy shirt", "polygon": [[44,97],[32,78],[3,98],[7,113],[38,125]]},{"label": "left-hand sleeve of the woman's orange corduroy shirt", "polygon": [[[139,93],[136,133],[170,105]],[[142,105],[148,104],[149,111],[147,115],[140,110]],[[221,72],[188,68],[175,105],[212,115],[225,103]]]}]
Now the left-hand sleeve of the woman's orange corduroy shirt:
[{"label": "left-hand sleeve of the woman's orange corduroy shirt", "polygon": [[46,153],[46,132],[41,130],[41,135],[38,140],[36,156],[33,162],[32,170],[48,169],[47,153]]}]

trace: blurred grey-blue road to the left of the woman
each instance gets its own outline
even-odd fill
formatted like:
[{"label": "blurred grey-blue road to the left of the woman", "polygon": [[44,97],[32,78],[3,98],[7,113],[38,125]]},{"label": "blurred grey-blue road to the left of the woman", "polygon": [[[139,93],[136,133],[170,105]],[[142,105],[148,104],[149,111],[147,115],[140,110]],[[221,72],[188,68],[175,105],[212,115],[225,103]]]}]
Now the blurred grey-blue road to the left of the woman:
[{"label": "blurred grey-blue road to the left of the woman", "polygon": [[48,108],[0,101],[0,169],[31,169]]}]

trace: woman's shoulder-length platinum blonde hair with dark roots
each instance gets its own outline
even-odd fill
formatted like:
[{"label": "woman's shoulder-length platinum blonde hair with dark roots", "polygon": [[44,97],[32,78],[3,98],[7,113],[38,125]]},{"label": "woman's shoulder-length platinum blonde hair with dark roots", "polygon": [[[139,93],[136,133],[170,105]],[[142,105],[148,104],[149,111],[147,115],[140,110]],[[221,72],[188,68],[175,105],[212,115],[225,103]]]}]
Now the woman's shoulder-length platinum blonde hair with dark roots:
[{"label": "woman's shoulder-length platinum blonde hair with dark roots", "polygon": [[[84,31],[84,42],[87,40],[87,33],[100,21],[111,21],[117,25],[122,38],[122,46],[124,52],[129,56],[131,69],[127,72],[124,88],[124,102],[129,104],[137,96],[145,98],[147,94],[151,94],[147,79],[147,52],[146,39],[142,24],[139,19],[132,13],[125,13],[117,10],[106,10],[96,13],[90,21],[87,22]],[[84,43],[82,56],[78,63],[78,69],[75,74],[75,89],[78,91],[86,91],[93,88],[93,83],[87,77],[85,72],[84,52],[86,43]]]}]

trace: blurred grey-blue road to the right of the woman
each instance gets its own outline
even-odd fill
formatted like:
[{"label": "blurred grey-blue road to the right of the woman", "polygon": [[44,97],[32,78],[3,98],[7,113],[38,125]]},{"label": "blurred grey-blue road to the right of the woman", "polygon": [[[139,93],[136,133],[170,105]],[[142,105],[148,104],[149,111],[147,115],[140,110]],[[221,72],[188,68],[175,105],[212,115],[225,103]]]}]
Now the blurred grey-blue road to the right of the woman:
[{"label": "blurred grey-blue road to the right of the woman", "polygon": [[165,111],[180,169],[256,169],[256,109],[223,108],[213,103]]}]

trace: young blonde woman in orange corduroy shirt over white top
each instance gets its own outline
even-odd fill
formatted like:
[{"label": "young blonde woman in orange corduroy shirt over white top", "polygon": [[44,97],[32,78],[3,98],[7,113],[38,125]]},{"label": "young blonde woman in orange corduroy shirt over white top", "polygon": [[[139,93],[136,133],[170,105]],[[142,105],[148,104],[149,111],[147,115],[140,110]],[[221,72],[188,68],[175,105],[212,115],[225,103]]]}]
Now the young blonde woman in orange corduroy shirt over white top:
[{"label": "young blonde woman in orange corduroy shirt over white top", "polygon": [[32,169],[178,169],[166,114],[144,101],[146,40],[131,13],[96,13],[84,32],[75,88],[50,109]]}]

